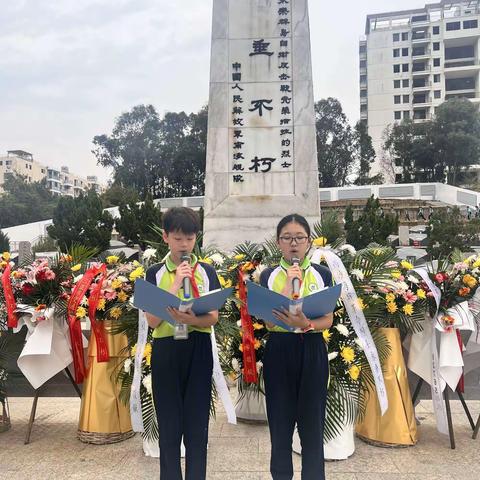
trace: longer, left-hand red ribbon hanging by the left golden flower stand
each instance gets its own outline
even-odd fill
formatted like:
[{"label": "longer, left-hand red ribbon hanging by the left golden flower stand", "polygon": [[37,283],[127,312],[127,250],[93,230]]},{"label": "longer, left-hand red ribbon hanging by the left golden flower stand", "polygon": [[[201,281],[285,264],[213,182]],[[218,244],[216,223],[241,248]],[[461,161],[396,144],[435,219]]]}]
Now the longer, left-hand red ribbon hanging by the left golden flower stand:
[{"label": "longer, left-hand red ribbon hanging by the left golden flower stand", "polygon": [[97,267],[92,267],[85,272],[82,279],[75,285],[72,296],[70,297],[67,305],[67,319],[70,329],[70,340],[72,344],[73,367],[75,370],[76,383],[83,383],[86,375],[85,359],[83,355],[82,326],[80,325],[80,321],[77,319],[77,308],[100,270],[101,269]]}]

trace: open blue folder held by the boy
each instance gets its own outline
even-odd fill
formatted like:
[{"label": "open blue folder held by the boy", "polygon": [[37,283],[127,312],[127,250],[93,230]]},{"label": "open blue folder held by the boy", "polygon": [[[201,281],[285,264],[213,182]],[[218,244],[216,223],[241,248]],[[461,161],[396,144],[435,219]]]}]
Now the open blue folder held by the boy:
[{"label": "open blue folder held by the boy", "polygon": [[233,288],[225,288],[223,290],[212,290],[198,298],[181,300],[146,280],[138,279],[135,282],[133,304],[138,309],[145,310],[171,325],[175,325],[175,320],[167,311],[168,307],[183,311],[191,309],[195,315],[204,315],[219,310],[232,293]]}]

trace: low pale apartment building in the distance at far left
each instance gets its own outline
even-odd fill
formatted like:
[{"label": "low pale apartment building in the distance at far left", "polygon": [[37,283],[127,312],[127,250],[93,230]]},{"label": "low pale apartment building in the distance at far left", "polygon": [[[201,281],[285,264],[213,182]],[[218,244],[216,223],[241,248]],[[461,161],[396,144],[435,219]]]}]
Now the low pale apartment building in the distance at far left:
[{"label": "low pale apartment building in the distance at far left", "polygon": [[9,150],[0,157],[0,192],[5,183],[5,175],[15,173],[23,176],[27,182],[39,182],[46,179],[46,186],[52,195],[78,197],[82,192],[94,188],[101,193],[104,187],[96,176],[82,177],[69,171],[68,167],[48,167],[33,159],[33,155],[23,150]]}]

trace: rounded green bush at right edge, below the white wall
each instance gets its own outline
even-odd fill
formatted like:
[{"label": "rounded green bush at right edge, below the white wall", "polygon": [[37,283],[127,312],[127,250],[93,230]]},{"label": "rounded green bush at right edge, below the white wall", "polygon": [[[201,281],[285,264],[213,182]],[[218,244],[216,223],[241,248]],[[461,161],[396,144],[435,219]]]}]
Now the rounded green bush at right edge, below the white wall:
[{"label": "rounded green bush at right edge, below the white wall", "polygon": [[480,219],[466,221],[458,207],[435,211],[427,229],[427,252],[432,258],[445,258],[455,249],[472,250],[480,241]]}]

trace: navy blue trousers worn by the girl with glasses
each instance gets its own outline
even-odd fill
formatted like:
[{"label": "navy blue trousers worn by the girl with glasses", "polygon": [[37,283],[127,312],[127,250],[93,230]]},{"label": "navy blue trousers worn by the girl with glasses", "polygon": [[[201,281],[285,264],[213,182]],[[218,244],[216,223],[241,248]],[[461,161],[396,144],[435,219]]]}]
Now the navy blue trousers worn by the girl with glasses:
[{"label": "navy blue trousers worn by the girl with glasses", "polygon": [[323,335],[271,333],[263,372],[273,480],[293,478],[295,423],[302,445],[302,479],[325,479],[323,427],[329,370]]}]

